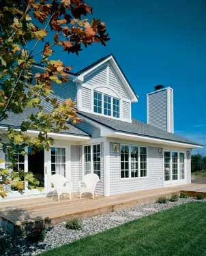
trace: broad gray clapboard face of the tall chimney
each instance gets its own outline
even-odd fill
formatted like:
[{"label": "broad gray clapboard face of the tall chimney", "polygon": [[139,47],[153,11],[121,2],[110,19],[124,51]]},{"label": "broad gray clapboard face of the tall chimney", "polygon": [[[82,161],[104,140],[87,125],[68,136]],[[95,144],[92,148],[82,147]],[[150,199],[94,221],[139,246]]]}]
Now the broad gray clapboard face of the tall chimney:
[{"label": "broad gray clapboard face of the tall chimney", "polygon": [[147,100],[148,124],[167,130],[166,89],[149,94]]}]

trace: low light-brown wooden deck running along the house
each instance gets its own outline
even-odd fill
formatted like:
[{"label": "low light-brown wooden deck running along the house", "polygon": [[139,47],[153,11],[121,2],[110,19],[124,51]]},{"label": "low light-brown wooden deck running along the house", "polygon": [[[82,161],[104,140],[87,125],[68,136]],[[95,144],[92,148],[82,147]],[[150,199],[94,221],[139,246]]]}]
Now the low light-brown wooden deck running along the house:
[{"label": "low light-brown wooden deck running along the house", "polygon": [[65,198],[59,203],[57,198],[53,200],[51,197],[4,202],[0,203],[0,225],[11,233],[18,234],[31,226],[55,225],[69,218],[113,212],[132,204],[156,201],[160,196],[179,194],[182,191],[192,196],[198,193],[206,197],[206,184],[172,186],[111,197],[98,196],[95,199],[90,196],[82,199],[73,197],[72,200]]}]

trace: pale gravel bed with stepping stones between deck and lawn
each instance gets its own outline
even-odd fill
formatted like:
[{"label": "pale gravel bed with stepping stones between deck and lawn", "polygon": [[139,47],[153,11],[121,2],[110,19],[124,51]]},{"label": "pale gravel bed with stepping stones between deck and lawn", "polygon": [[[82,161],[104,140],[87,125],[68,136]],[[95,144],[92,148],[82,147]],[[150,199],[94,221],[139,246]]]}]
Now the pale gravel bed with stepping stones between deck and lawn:
[{"label": "pale gravel bed with stepping stones between deck and lawn", "polygon": [[[25,238],[12,238],[8,233],[0,228],[0,255],[12,255],[12,256],[28,256],[37,255],[50,248],[55,248],[63,244],[68,244],[74,240],[78,240],[85,236],[89,236],[95,233],[99,233],[106,229],[111,229],[122,225],[128,221],[134,221],[137,218],[143,218],[149,214],[154,214],[162,210],[173,208],[181,203],[189,203],[192,201],[205,201],[196,200],[193,198],[181,199],[177,202],[167,203],[145,203],[142,205],[133,205],[130,208],[118,210],[108,214],[102,214],[99,216],[82,218],[82,228],[80,230],[71,230],[65,227],[65,222],[59,223],[54,227],[50,227],[46,230],[44,240],[41,242],[28,242]],[[7,248],[2,254],[2,249]]]}]

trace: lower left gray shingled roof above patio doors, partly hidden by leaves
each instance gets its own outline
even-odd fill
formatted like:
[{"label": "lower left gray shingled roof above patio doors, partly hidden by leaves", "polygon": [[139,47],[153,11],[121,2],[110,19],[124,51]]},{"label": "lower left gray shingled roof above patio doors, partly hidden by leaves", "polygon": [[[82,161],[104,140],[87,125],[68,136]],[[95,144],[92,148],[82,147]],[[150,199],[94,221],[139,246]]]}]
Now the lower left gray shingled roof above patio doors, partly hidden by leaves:
[{"label": "lower left gray shingled roof above patio doors, partly hidden by leaves", "polygon": [[[3,119],[3,121],[0,122],[0,126],[5,127],[12,127],[12,128],[20,128],[20,125],[22,122],[27,118],[28,115],[31,115],[31,113],[36,113],[38,111],[37,108],[27,108],[23,113],[20,114],[14,114],[9,113],[7,119]],[[80,130],[79,128],[76,128],[76,126],[73,126],[72,124],[68,124],[68,130],[62,130],[61,134],[72,134],[72,135],[79,135],[79,136],[86,136],[89,137],[89,134],[86,132],[83,132],[83,130]]]}]

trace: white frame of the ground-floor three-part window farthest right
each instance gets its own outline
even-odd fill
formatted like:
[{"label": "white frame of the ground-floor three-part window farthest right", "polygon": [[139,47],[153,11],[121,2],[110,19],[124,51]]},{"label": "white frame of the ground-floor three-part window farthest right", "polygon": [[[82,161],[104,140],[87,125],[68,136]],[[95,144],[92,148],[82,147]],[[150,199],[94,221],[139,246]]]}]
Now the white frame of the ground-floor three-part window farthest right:
[{"label": "white frame of the ground-floor three-part window farthest right", "polygon": [[[170,152],[170,180],[164,180],[164,152]],[[186,152],[183,151],[178,151],[178,150],[164,150],[163,152],[163,181],[164,184],[166,183],[175,183],[179,181],[184,181],[186,180]],[[173,152],[177,153],[177,180],[173,180]],[[179,154],[183,153],[184,154],[184,178],[182,179],[180,177],[180,165],[179,165]]]}]

